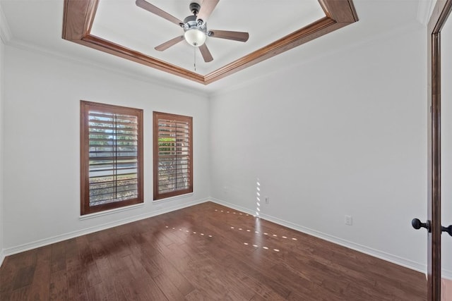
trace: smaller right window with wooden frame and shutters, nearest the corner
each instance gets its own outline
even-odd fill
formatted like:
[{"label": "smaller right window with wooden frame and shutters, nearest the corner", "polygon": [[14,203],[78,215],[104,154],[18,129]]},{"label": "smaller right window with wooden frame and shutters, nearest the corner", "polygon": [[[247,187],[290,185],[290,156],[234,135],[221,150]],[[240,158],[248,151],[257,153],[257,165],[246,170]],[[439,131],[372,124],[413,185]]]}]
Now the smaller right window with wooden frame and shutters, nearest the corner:
[{"label": "smaller right window with wooden frame and shutters, nearest the corner", "polygon": [[193,192],[192,120],[154,112],[154,199]]}]

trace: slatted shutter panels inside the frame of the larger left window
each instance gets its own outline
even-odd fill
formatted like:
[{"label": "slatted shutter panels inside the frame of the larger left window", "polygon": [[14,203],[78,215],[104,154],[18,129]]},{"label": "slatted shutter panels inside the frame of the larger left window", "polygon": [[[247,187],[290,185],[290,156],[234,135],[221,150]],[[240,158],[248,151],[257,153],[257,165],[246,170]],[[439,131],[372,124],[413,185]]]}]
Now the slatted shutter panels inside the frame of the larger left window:
[{"label": "slatted shutter panels inside the frame of the larger left window", "polygon": [[138,196],[137,118],[89,113],[90,206]]}]

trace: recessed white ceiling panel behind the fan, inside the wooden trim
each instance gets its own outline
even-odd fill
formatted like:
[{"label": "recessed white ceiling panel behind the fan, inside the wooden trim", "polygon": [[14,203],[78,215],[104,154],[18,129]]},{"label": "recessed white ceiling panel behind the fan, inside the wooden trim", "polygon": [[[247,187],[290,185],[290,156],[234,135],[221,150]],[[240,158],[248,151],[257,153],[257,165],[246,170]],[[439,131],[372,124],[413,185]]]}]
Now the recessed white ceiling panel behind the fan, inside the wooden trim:
[{"label": "recessed white ceiling panel behind the fan, inside the wooden trim", "polygon": [[[190,0],[148,0],[170,15],[184,20],[192,13]],[[201,6],[203,4],[201,3]],[[223,0],[207,20],[208,30],[249,32],[247,42],[208,37],[213,61],[203,61],[197,47],[182,41],[165,51],[154,49],[184,34],[182,27],[136,6],[134,0],[100,0],[91,34],[134,49],[147,56],[206,75],[252,51],[324,17],[317,0]]]}]

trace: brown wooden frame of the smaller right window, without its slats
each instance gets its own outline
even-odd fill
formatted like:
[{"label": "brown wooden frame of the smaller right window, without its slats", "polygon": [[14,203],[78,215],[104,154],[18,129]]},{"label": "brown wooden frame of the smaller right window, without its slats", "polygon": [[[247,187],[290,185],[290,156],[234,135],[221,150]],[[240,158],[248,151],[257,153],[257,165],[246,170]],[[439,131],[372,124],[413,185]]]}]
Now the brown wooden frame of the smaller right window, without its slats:
[{"label": "brown wooden frame of the smaller right window, without its slats", "polygon": [[[182,123],[189,123],[189,185],[186,189],[174,190],[171,192],[159,191],[159,119],[172,119]],[[182,116],[172,113],[153,112],[153,185],[154,200],[186,195],[193,192],[193,117]]]}]

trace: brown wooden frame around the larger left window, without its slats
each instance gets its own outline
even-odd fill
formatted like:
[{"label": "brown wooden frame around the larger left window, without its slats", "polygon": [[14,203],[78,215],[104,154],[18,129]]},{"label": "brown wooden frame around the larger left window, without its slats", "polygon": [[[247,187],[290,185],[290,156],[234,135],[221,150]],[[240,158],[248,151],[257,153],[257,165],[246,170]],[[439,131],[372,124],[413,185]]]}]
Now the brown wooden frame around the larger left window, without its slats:
[{"label": "brown wooden frame around the larger left window, without its slats", "polygon": [[[96,109],[108,113],[128,114],[137,116],[137,178],[138,178],[138,195],[132,199],[121,200],[117,202],[108,202],[106,204],[99,204],[90,206],[90,175],[89,175],[89,111]],[[143,110],[133,109],[125,106],[114,106],[111,104],[99,104],[95,102],[81,101],[81,215],[92,214],[100,211],[107,211],[110,209],[117,209],[133,204],[143,203]]]}]

